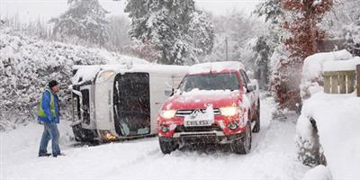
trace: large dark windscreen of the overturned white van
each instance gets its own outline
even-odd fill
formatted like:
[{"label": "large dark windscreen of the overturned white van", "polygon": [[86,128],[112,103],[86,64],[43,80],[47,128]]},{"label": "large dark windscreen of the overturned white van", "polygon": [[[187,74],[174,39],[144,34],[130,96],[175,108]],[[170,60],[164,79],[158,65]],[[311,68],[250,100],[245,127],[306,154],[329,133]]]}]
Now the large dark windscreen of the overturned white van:
[{"label": "large dark windscreen of the overturned white van", "polygon": [[121,136],[150,133],[148,73],[125,73],[115,76],[113,111],[115,130]]}]

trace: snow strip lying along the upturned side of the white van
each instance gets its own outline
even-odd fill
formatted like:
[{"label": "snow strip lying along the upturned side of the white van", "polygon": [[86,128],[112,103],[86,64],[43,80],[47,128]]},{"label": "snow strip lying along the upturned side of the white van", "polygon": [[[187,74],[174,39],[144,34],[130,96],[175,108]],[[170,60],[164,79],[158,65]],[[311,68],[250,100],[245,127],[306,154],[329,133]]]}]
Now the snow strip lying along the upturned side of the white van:
[{"label": "snow strip lying along the upturned side of the white van", "polygon": [[112,65],[90,65],[90,66],[73,66],[77,69],[76,75],[72,78],[74,85],[91,81],[102,71],[114,71],[116,73],[129,72],[148,72],[163,74],[186,74],[188,66],[176,65],[159,65],[159,64],[112,64]]}]

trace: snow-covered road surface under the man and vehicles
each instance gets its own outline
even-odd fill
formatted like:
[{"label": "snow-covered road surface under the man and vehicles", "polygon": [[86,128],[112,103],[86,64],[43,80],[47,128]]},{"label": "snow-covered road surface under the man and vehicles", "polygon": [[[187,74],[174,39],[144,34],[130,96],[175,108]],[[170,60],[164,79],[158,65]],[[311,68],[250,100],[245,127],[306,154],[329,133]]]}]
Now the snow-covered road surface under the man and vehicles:
[{"label": "snow-covered road surface under the man and vehicles", "polygon": [[[65,157],[37,157],[41,126],[1,132],[0,179],[301,179],[295,121],[272,121],[274,102],[261,100],[261,130],[250,154],[176,150],[163,155],[157,138],[95,147],[62,146]],[[60,132],[61,133],[61,132]]]}]

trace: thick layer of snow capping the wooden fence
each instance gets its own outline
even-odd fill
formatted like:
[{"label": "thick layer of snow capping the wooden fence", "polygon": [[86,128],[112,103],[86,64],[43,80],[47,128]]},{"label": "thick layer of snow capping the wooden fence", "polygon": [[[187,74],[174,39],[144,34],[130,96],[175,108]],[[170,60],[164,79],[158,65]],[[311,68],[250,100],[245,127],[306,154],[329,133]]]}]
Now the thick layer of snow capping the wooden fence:
[{"label": "thick layer of snow capping the wooden fence", "polygon": [[324,63],[324,71],[346,71],[356,70],[356,65],[360,64],[360,58],[355,57],[348,60],[327,61]]}]

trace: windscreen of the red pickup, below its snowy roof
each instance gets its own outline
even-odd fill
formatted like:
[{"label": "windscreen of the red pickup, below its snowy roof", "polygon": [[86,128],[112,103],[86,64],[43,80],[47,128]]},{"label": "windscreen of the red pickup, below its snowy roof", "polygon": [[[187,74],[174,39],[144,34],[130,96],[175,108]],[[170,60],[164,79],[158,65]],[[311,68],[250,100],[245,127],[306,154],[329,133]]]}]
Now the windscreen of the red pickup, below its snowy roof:
[{"label": "windscreen of the red pickup, below its snowy roof", "polygon": [[199,90],[238,90],[238,76],[234,73],[215,73],[185,76],[179,86],[181,92]]}]

